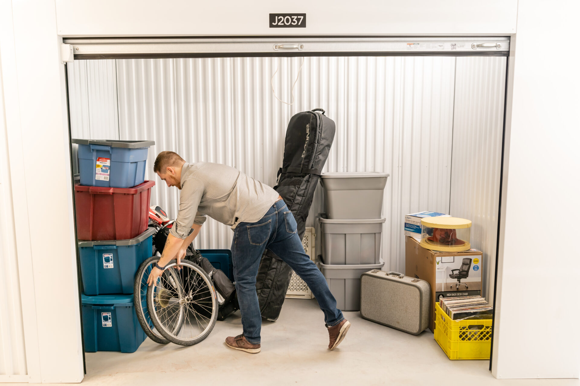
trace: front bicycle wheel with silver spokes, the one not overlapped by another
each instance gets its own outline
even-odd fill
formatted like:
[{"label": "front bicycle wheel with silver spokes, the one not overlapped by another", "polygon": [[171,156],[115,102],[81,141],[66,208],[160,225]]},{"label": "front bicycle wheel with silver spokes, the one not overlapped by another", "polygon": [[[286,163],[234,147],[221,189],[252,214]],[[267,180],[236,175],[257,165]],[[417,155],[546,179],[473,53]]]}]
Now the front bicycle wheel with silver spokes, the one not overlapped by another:
[{"label": "front bicycle wheel with silver spokes, the one not overlapped by another", "polygon": [[[172,260],[166,266],[165,270],[172,269],[176,264],[176,260]],[[185,271],[187,273],[184,273]],[[192,276],[192,273],[195,276]],[[189,260],[181,260],[181,270],[178,275],[180,277],[180,284],[182,285],[182,295],[173,292],[171,299],[166,300],[165,306],[161,306],[160,303],[165,298],[159,294],[162,292],[166,294],[164,291],[171,292],[171,290],[165,288],[163,279],[160,277],[157,283],[155,283],[155,287],[151,285],[147,288],[147,308],[150,312],[153,325],[166,340],[175,344],[189,346],[200,343],[212,332],[218,319],[218,297],[215,289],[213,289],[211,278],[197,264],[191,263]],[[179,299],[175,298],[176,295],[180,296]],[[167,304],[171,305],[171,310],[165,310],[165,308],[169,308]],[[185,321],[182,326],[183,328],[180,328],[178,331],[176,329],[169,331],[167,327],[168,325],[171,326],[172,317],[169,316],[168,321],[163,319],[165,318],[165,314],[171,314],[175,308],[183,310]],[[211,315],[204,316],[200,313],[200,310],[209,313],[210,308]],[[204,319],[206,319],[207,323],[205,327],[203,326]],[[202,321],[201,324],[200,320]],[[195,335],[193,333],[188,334],[190,330],[195,331],[196,329],[196,324],[193,321],[197,323],[197,328],[201,331]]]}]

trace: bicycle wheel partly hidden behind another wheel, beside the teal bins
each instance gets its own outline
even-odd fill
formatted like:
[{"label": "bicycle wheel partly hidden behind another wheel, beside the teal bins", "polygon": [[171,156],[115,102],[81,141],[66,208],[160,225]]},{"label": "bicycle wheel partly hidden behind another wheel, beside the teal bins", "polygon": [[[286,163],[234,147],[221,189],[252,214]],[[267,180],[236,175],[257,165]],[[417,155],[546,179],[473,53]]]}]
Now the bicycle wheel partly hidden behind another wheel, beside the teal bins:
[{"label": "bicycle wheel partly hidden behind another wheel, beside the teal bins", "polygon": [[[139,324],[147,336],[155,343],[167,344],[169,343],[169,340],[165,339],[157,328],[155,328],[147,308],[147,278],[151,273],[151,269],[153,269],[153,265],[157,263],[159,259],[160,256],[151,256],[139,266],[139,269],[135,274],[135,284],[133,285],[133,304],[135,304],[135,313],[137,314]],[[163,275],[171,275],[172,277],[171,280],[169,277],[166,278],[166,282],[179,281],[179,277],[177,277],[173,270],[165,270]],[[183,325],[183,320],[181,323]]]}]

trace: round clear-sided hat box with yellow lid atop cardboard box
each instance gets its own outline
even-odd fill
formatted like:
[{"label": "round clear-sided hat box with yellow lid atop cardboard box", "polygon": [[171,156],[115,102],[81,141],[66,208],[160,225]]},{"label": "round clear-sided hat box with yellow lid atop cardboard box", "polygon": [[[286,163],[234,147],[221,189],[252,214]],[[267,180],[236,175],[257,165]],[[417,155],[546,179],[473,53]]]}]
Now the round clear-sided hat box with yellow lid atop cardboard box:
[{"label": "round clear-sided hat box with yellow lid atop cardboard box", "polygon": [[421,219],[421,247],[443,252],[461,252],[471,248],[471,220],[458,217]]}]

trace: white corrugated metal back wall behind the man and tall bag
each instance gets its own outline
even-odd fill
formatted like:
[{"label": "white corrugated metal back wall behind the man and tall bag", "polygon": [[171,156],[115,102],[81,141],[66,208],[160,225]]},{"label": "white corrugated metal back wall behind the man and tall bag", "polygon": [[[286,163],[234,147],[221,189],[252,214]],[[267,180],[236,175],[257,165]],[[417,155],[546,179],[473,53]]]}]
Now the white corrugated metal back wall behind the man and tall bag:
[{"label": "white corrugated metal back wall behind the man and tall bag", "polygon": [[[384,171],[391,175],[385,189],[383,214],[387,221],[382,258],[386,270],[404,271],[404,215],[450,209],[455,67],[463,59],[307,57],[292,106],[274,98],[270,79],[279,65],[274,90],[281,100],[291,101],[291,87],[302,58],[100,61],[107,63],[100,68],[102,73],[117,67],[116,79],[111,75],[103,75],[103,79],[93,73],[83,75],[82,71],[91,72],[94,67],[87,64],[83,69],[84,61],[75,61],[69,65],[69,81],[82,80],[84,76],[89,82],[85,87],[89,94],[90,90],[108,90],[116,84],[118,138],[155,140],[146,178],[155,178],[155,155],[161,150],[174,150],[187,160],[229,164],[274,186],[288,120],[296,112],[324,108],[336,122],[335,142],[325,171]],[[469,58],[474,62],[499,59]],[[494,62],[494,69],[486,71],[498,71],[501,65]],[[473,78],[469,71],[479,70],[466,69],[461,76]],[[90,85],[91,82],[101,86]],[[104,87],[104,83],[110,87]],[[79,89],[82,97],[83,86],[71,88]],[[90,98],[95,103],[99,100],[94,95]],[[110,105],[113,100],[104,97],[102,103]],[[464,100],[466,103],[469,104]],[[80,116],[82,106],[79,104]],[[88,111],[90,117],[90,108]],[[108,116],[114,117],[114,113]],[[74,137],[77,120],[71,122]],[[113,123],[108,124],[116,130]],[[501,124],[498,127],[501,133]],[[92,129],[89,133],[94,135]],[[114,134],[111,136],[117,138]],[[454,158],[454,164],[458,162],[459,158]],[[455,172],[460,170],[457,167]],[[161,182],[158,178],[155,181]],[[459,176],[455,181],[459,181]],[[489,189],[491,196],[496,186]],[[157,185],[151,199],[166,208],[169,215],[176,214],[177,190]],[[314,225],[314,218],[322,211],[321,201],[318,189],[308,226]],[[455,214],[453,210],[451,213]],[[490,216],[487,212],[480,215]],[[196,247],[229,248],[231,230],[213,220],[206,225]],[[477,243],[474,245],[477,247]]]}]

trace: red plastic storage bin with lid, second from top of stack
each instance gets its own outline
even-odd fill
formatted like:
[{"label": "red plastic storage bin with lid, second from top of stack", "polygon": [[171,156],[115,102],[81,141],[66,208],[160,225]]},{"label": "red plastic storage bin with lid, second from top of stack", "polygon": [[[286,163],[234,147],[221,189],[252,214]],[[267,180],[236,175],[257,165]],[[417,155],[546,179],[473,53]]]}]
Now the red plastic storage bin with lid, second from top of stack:
[{"label": "red plastic storage bin with lid, second from top of stack", "polygon": [[75,185],[78,240],[125,240],[142,234],[154,185],[155,181],[135,188]]}]

